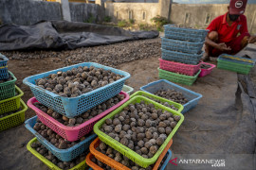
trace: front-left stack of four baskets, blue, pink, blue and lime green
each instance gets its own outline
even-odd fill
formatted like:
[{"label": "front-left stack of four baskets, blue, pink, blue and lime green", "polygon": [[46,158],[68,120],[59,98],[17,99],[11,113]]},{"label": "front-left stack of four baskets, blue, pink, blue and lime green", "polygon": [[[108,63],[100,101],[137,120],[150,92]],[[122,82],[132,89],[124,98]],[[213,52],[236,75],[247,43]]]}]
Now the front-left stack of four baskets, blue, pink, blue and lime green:
[{"label": "front-left stack of four baskets, blue, pink, blue and lime green", "polygon": [[[79,67],[89,68],[90,66],[97,69],[101,68],[104,70],[110,70],[112,73],[119,74],[123,77],[91,92],[82,93],[77,97],[64,97],[56,93],[51,93],[40,86],[37,86],[35,83],[37,79],[47,77],[51,74],[57,74],[60,72],[64,73],[68,70]],[[63,169],[63,164],[64,169],[85,169],[87,164],[85,162],[84,154],[86,154],[86,152],[88,153],[89,145],[97,137],[97,135],[93,132],[93,127],[104,116],[119,108],[119,106],[129,99],[129,94],[121,91],[125,80],[129,76],[130,75],[128,73],[111,67],[93,62],[85,62],[25,78],[23,82],[30,87],[35,96],[27,101],[27,106],[34,110],[37,114],[37,116],[34,116],[26,121],[27,129],[36,137],[27,144],[27,149],[38,159],[45,162],[46,165],[51,169]],[[118,94],[123,96],[119,103],[110,105],[110,108],[102,110],[96,116],[92,116],[90,119],[84,120],[82,124],[75,127],[69,127],[68,125],[62,124],[57,118],[50,116],[47,110],[36,107],[38,104],[40,104],[40,106],[44,106],[48,110],[50,109],[62,114],[62,117],[65,117],[65,119],[70,121],[73,118],[78,118],[77,116],[86,114],[86,112],[89,110],[101,107],[100,105],[103,102],[107,102]],[[44,137],[42,133],[36,130],[36,125],[42,124],[46,126],[47,132],[48,130],[51,131],[51,135],[55,135],[56,138],[58,136],[59,140],[63,140],[66,144],[71,145],[69,145],[67,148],[61,149],[60,146],[55,144],[56,141],[54,142],[54,140],[49,140],[49,136]],[[44,126],[43,128],[45,129]],[[49,157],[46,156],[46,154],[42,154],[40,149],[38,150],[32,147],[36,145],[34,143],[38,142],[42,144],[51,153],[51,155],[54,156],[55,159],[58,159],[58,161],[53,162],[52,160],[49,160]],[[74,142],[75,144],[73,144]],[[70,162],[77,162],[78,159],[81,159],[82,155],[84,155],[84,159],[75,166],[72,165],[71,167],[70,164],[72,163]],[[62,166],[60,166],[60,164]]]}]

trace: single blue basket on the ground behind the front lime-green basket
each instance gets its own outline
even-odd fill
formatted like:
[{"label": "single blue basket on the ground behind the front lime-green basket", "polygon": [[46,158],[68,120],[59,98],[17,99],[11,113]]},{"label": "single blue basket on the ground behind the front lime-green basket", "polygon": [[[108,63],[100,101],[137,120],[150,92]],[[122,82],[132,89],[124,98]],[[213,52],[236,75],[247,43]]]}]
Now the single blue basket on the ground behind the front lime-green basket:
[{"label": "single blue basket on the ground behind the front lime-green basket", "polygon": [[184,109],[181,111],[181,113],[185,113],[189,110],[192,110],[192,108],[194,108],[197,105],[199,99],[202,97],[202,94],[200,93],[194,93],[191,90],[178,86],[165,79],[160,79],[158,81],[149,83],[140,88],[141,91],[153,94],[160,89],[171,89],[183,93],[183,95],[189,100],[189,102],[183,105]]}]

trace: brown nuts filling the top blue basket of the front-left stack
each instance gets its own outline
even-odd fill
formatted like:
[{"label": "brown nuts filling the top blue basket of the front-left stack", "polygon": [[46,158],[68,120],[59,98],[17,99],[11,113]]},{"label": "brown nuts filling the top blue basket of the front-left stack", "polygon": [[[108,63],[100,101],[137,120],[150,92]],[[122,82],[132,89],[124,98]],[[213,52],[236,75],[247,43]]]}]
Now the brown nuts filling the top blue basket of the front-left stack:
[{"label": "brown nuts filling the top blue basket of the front-left stack", "polygon": [[119,80],[121,75],[102,68],[80,66],[36,80],[36,85],[64,97],[76,97]]}]

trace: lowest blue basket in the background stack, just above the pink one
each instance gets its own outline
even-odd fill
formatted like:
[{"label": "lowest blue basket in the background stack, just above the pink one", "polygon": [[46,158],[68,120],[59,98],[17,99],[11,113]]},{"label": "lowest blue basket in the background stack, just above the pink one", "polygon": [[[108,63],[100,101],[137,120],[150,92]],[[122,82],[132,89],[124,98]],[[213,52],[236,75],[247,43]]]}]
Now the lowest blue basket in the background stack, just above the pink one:
[{"label": "lowest blue basket in the background stack, just above the pink one", "polygon": [[162,49],[162,59],[193,65],[197,65],[199,63],[200,59],[203,57],[203,54],[203,52],[197,55]]}]

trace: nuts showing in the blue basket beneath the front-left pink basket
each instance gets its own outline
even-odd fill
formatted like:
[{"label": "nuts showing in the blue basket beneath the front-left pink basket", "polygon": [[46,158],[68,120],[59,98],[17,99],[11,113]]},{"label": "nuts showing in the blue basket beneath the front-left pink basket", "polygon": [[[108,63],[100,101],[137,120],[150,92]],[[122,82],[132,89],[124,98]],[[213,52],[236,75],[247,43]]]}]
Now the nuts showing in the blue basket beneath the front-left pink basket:
[{"label": "nuts showing in the blue basket beneath the front-left pink basket", "polygon": [[[41,134],[48,142],[55,145],[59,149],[66,149],[69,147],[72,147],[75,144],[78,144],[86,139],[85,136],[83,136],[79,141],[75,142],[69,142],[66,139],[64,139],[59,134],[55,133],[52,129],[49,127],[46,127],[43,123],[41,123],[39,120],[37,120],[37,123],[33,127],[39,134]],[[90,136],[90,134],[87,134],[86,136]]]}]

